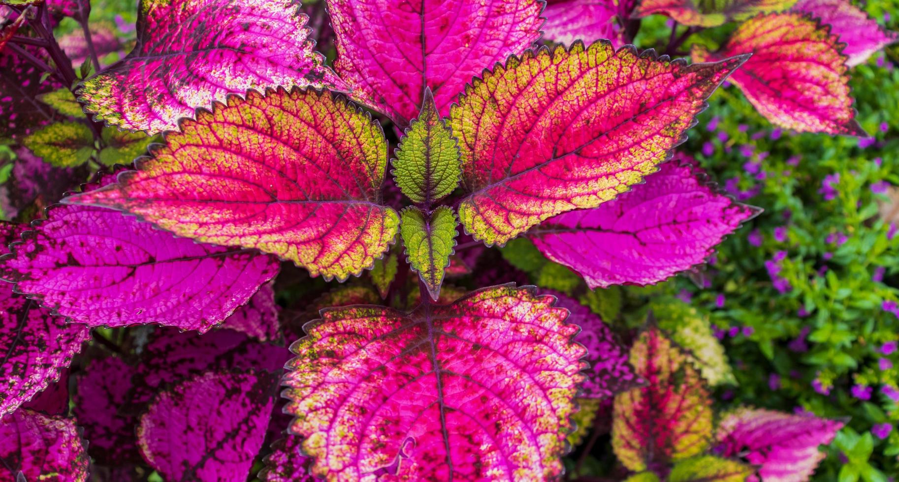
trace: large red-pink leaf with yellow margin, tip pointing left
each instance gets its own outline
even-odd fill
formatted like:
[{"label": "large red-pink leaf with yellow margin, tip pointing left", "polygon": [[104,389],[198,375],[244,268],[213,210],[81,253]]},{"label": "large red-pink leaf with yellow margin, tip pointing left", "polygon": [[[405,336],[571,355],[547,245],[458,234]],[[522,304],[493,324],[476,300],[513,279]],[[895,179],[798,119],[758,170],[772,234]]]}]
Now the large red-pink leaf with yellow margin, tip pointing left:
[{"label": "large red-pink leaf with yellow margin, tip pointing left", "polygon": [[118,184],[64,202],[274,253],[325,279],[359,275],[394,240],[399,217],[380,204],[381,127],[329,92],[231,96],[165,141]]}]

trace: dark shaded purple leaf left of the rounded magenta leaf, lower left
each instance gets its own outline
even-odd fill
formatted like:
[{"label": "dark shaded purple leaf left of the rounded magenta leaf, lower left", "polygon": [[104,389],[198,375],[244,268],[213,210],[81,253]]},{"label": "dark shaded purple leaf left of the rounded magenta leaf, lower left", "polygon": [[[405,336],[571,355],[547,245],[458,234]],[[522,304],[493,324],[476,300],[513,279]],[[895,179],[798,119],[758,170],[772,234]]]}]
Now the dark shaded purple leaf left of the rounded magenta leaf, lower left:
[{"label": "dark shaded purple leaf left of the rounded magenta leaf, lower left", "polygon": [[85,429],[88,453],[101,465],[140,460],[134,434],[138,417],[120,410],[129,399],[135,372],[118,356],[107,356],[94,358],[76,377],[75,416]]}]

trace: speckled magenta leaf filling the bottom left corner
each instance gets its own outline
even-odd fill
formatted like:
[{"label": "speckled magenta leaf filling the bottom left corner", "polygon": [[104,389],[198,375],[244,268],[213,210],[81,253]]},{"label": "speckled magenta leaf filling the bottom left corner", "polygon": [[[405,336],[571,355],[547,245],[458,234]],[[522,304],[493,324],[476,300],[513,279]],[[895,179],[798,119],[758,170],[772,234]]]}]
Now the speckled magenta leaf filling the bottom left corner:
[{"label": "speckled magenta leaf filling the bottom left corner", "polygon": [[84,482],[89,462],[74,419],[28,409],[0,419],[0,480]]}]

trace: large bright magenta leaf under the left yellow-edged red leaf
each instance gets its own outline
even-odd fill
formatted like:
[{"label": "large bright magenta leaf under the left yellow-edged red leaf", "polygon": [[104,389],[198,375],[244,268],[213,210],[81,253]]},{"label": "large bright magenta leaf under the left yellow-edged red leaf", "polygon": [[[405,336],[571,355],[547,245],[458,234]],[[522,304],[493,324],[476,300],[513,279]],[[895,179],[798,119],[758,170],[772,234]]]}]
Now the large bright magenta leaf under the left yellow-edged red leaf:
[{"label": "large bright magenta leaf under the left yellow-edged red leaf", "polygon": [[0,273],[18,293],[91,327],[206,331],[278,271],[270,255],[176,238],[109,209],[53,206],[47,216],[0,259]]}]

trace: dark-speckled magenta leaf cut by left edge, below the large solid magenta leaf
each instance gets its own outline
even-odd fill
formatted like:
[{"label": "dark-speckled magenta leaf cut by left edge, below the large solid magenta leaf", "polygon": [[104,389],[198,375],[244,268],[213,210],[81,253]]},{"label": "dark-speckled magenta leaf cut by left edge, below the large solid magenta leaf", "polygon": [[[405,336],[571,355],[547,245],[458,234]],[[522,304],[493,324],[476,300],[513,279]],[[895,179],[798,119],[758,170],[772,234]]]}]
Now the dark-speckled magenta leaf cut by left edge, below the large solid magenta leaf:
[{"label": "dark-speckled magenta leaf cut by left edge, below the large solid magenta leaf", "polygon": [[[16,239],[24,224],[0,222],[0,253]],[[91,337],[85,325],[69,325],[37,302],[13,293],[0,282],[0,416],[12,413],[60,373]]]}]

